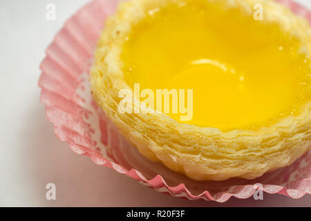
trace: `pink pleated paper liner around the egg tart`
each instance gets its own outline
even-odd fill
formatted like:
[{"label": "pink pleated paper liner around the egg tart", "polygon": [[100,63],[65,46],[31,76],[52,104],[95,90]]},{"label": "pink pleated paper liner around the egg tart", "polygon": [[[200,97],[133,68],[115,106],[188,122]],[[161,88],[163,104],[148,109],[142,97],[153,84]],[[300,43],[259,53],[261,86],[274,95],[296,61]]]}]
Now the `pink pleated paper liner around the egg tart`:
[{"label": "pink pleated paper liner around the egg tart", "polygon": [[[77,154],[91,157],[98,165],[128,175],[162,193],[189,200],[225,202],[232,196],[249,198],[257,188],[290,198],[311,194],[311,151],[292,165],[266,173],[256,180],[230,179],[197,182],[150,162],[127,142],[97,107],[88,83],[88,70],[106,17],[120,0],[95,0],[71,17],[46,50],[41,63],[39,87],[46,117],[55,135]],[[305,17],[311,12],[290,0],[276,0]],[[254,185],[261,184],[261,185]]]}]

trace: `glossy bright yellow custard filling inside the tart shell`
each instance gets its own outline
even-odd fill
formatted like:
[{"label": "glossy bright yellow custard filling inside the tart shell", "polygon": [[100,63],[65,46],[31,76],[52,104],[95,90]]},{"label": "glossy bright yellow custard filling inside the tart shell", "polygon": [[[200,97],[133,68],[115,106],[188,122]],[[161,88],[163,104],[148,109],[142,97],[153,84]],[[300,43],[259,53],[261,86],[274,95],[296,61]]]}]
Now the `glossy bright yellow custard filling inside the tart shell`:
[{"label": "glossy bright yellow custard filling inside the tart shell", "polygon": [[298,115],[310,99],[310,61],[295,37],[200,1],[149,11],[126,37],[122,61],[129,86],[193,89],[193,117],[181,123],[258,128]]}]

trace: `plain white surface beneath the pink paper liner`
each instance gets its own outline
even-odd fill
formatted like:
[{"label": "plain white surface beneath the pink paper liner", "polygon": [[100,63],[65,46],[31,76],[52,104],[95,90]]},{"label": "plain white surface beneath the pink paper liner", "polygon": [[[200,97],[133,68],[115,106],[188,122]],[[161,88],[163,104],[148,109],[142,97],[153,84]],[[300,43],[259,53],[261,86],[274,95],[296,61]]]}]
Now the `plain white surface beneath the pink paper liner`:
[{"label": "plain white surface beneath the pink paper liner", "polygon": [[[0,1],[0,206],[311,206],[310,195],[292,200],[265,194],[262,201],[232,198],[225,204],[172,198],[59,142],[39,103],[39,64],[64,20],[86,2]],[[301,2],[311,8],[311,1]],[[56,21],[46,20],[48,3],[57,7]],[[55,201],[45,198],[49,182],[56,184]]]}]

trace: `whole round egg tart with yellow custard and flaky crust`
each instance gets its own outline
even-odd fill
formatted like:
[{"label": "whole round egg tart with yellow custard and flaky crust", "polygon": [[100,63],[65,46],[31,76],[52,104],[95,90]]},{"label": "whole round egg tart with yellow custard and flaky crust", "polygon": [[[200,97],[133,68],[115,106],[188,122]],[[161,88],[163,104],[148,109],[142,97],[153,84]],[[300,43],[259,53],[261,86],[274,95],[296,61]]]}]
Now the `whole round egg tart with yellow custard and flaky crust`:
[{"label": "whole round egg tart with yellow custard and flaky crust", "polygon": [[310,54],[308,21],[274,1],[132,0],[106,21],[91,86],[149,160],[254,179],[310,150]]}]

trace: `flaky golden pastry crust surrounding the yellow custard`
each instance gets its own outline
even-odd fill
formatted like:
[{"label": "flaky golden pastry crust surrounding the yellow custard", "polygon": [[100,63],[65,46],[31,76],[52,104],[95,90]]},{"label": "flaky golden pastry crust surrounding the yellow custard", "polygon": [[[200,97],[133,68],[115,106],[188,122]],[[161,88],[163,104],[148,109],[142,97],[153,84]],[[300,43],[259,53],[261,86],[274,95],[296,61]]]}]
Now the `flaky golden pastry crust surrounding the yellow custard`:
[{"label": "flaky golden pastry crust surrounding the yellow custard", "polygon": [[[122,79],[122,61],[118,57],[124,33],[129,31],[131,23],[144,17],[149,8],[184,1],[135,0],[120,4],[117,13],[107,21],[95,52],[95,64],[91,70],[95,101],[143,155],[194,180],[252,179],[291,164],[311,148],[311,101],[303,106],[299,116],[284,117],[281,122],[258,131],[222,132],[217,128],[180,124],[162,113],[133,115],[117,112],[118,91],[130,89]],[[270,0],[224,2],[229,7],[236,3],[246,13],[255,3],[262,3],[266,12],[271,12],[267,13],[265,20],[279,22],[285,31],[300,37],[310,55],[310,26],[287,8]],[[133,16],[133,11],[137,16]]]}]

